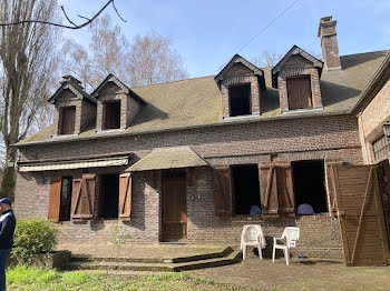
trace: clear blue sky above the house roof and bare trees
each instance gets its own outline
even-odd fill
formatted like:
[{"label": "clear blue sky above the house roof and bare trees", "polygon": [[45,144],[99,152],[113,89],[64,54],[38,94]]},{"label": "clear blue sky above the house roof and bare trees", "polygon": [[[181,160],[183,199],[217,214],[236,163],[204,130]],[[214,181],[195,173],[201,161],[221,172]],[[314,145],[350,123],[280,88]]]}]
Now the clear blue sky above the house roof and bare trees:
[{"label": "clear blue sky above the house roof and bare trees", "polygon": [[[107,0],[59,0],[71,19],[90,17]],[[107,12],[130,40],[157,31],[172,40],[192,78],[215,74],[238,49],[294,0],[116,0],[127,20]],[[251,60],[262,50],[284,54],[296,44],[321,52],[316,37],[321,17],[338,20],[340,54],[390,49],[390,0],[299,0],[238,53]],[[88,29],[65,30],[65,37],[88,46]]]}]

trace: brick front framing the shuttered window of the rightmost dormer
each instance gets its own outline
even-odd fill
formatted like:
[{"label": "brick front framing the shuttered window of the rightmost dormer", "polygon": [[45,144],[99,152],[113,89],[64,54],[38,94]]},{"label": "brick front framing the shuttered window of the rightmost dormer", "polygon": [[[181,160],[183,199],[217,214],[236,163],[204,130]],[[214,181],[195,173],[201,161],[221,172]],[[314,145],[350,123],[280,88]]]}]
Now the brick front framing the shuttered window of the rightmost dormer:
[{"label": "brick front framing the shuttered window of the rightmost dormer", "polygon": [[320,89],[320,78],[313,63],[302,56],[291,56],[283,64],[277,76],[277,88],[280,96],[281,111],[289,111],[287,79],[298,76],[310,76],[313,108],[322,108],[322,98]]}]

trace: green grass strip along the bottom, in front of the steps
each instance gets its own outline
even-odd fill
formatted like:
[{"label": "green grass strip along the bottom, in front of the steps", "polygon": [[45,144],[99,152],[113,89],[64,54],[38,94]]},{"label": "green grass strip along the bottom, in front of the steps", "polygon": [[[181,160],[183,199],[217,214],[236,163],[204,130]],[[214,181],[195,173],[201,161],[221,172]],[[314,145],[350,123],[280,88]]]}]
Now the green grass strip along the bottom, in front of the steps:
[{"label": "green grass strip along the bottom, in front of the steps", "polygon": [[104,273],[58,272],[38,268],[16,267],[7,271],[8,290],[231,290],[245,291],[228,284],[214,283],[187,273],[162,273],[158,275],[119,279]]}]

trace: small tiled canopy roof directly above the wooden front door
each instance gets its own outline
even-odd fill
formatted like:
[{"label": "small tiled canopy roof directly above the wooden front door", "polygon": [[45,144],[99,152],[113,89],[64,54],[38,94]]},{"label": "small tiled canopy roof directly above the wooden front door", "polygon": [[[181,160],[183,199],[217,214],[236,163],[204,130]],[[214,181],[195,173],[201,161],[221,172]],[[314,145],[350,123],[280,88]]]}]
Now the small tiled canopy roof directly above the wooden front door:
[{"label": "small tiled canopy roof directly above the wooden front door", "polygon": [[127,168],[126,172],[163,170],[208,165],[189,147],[173,147],[154,149],[145,158]]}]

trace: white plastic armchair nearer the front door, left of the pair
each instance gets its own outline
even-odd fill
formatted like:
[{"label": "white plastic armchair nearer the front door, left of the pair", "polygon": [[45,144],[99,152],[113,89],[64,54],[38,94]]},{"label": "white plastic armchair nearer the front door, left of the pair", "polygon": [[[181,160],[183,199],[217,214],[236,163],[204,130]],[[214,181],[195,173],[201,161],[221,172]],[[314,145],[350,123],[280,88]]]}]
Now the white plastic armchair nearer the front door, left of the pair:
[{"label": "white plastic armchair nearer the front door, left of the pair", "polygon": [[262,227],[256,224],[244,225],[241,233],[241,250],[243,250],[243,260],[246,258],[246,248],[248,245],[256,247],[260,260],[263,260],[262,249],[265,248],[265,239]]}]

